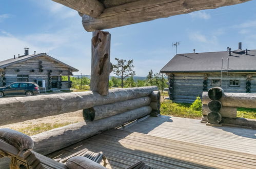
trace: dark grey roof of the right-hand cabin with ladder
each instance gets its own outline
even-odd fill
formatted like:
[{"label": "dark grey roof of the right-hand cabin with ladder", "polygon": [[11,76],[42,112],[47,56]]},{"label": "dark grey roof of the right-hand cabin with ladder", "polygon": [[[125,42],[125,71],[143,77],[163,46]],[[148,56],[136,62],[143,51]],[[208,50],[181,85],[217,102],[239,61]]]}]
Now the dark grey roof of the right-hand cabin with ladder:
[{"label": "dark grey roof of the right-hand cabin with ladder", "polygon": [[229,72],[256,72],[256,50],[248,50],[248,55],[231,52],[231,56],[228,51],[176,54],[160,72],[220,72],[222,58],[225,69],[229,58]]}]

